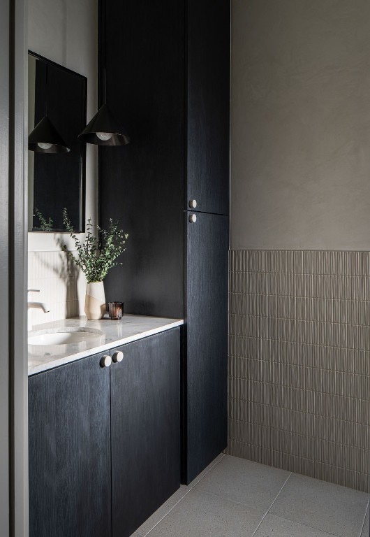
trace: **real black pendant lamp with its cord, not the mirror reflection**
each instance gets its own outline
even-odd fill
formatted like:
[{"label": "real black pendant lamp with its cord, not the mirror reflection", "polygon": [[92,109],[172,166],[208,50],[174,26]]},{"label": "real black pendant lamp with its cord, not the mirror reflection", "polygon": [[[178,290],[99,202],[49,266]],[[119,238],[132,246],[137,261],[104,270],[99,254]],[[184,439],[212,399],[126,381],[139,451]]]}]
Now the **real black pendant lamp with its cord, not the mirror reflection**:
[{"label": "real black pendant lamp with its cord, not the mirror reflection", "polygon": [[[99,69],[103,71],[103,106],[99,108],[92,120],[87,124],[81,134],[78,135],[80,141],[95,143],[96,145],[127,145],[130,138],[107,106],[107,75],[106,75],[106,54],[105,54],[105,2],[103,9],[99,13],[101,32],[99,45],[101,50]],[[102,62],[103,60],[103,62]],[[102,65],[103,63],[103,65]]]}]

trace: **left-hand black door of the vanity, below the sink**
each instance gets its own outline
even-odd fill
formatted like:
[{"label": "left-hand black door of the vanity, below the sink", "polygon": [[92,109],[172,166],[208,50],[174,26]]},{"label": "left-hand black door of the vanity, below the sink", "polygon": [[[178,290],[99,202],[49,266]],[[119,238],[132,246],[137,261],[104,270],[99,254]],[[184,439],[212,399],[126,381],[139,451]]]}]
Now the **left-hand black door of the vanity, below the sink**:
[{"label": "left-hand black door of the vanity, below the sink", "polygon": [[29,378],[29,536],[110,537],[110,378],[102,355]]}]

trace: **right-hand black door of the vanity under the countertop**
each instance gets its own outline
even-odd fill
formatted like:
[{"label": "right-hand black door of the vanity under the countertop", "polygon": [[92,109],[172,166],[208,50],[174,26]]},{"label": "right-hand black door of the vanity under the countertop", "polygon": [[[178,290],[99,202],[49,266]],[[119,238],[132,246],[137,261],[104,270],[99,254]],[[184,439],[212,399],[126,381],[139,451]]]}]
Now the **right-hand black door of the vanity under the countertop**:
[{"label": "right-hand black door of the vanity under the countertop", "polygon": [[120,350],[110,368],[113,537],[130,536],[180,485],[179,329]]}]

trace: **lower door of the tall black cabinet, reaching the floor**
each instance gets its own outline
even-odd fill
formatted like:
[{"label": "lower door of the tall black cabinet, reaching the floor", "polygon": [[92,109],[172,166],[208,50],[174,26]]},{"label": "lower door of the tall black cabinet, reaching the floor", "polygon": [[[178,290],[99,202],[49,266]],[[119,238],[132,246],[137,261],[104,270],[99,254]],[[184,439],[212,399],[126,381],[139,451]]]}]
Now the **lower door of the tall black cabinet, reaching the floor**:
[{"label": "lower door of the tall black cabinet, reaching the floor", "polygon": [[198,213],[191,223],[185,214],[182,478],[188,483],[227,445],[228,217]]}]

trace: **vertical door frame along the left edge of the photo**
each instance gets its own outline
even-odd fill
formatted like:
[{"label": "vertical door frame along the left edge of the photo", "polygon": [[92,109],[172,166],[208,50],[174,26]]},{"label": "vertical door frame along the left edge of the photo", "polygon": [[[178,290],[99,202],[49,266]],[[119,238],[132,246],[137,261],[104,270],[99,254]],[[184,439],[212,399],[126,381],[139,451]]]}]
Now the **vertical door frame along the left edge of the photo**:
[{"label": "vertical door frame along the left edge of the photo", "polygon": [[0,2],[0,527],[28,536],[27,0]]}]

